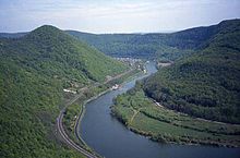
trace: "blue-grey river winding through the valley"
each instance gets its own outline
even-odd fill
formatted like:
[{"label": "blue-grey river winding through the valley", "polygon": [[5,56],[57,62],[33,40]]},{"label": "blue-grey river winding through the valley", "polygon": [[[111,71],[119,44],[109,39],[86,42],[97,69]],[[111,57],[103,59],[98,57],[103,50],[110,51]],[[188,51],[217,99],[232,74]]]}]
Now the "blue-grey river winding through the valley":
[{"label": "blue-grey river winding through the valley", "polygon": [[[147,74],[157,70],[146,64]],[[146,76],[145,75],[145,76]],[[110,114],[112,99],[132,88],[136,80],[123,84],[86,105],[79,133],[86,144],[106,158],[240,158],[240,148],[159,144],[128,130]]]}]

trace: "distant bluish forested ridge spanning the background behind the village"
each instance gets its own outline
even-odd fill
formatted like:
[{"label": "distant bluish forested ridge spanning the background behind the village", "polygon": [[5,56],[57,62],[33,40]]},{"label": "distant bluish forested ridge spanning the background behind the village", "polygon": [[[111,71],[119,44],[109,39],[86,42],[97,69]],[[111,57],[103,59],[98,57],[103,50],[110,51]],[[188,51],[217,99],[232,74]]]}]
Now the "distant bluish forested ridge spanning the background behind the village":
[{"label": "distant bluish forested ridge spanning the background behind the village", "polygon": [[113,57],[134,57],[176,60],[201,49],[227,25],[238,20],[223,21],[217,25],[195,27],[170,34],[87,34],[67,33]]}]

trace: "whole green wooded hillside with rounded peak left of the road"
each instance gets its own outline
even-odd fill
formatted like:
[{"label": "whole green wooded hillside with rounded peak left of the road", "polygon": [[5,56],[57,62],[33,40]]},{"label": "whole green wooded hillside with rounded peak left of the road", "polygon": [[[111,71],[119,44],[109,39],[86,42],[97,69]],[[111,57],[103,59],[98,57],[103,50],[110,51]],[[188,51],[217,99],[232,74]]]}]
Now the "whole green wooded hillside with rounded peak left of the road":
[{"label": "whole green wooded hillside with rounded peak left of the road", "polygon": [[127,69],[53,26],[0,39],[0,157],[81,157],[55,136],[63,88]]}]

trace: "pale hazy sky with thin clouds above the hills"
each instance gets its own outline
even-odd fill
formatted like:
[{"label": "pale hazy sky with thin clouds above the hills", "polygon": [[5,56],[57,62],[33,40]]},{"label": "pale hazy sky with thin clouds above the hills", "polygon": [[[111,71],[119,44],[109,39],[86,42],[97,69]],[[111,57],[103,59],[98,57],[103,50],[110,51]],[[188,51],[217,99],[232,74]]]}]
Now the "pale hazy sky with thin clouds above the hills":
[{"label": "pale hazy sky with thin clouds above the hills", "polygon": [[89,33],[153,33],[240,17],[240,0],[0,0],[0,32],[44,24]]}]

